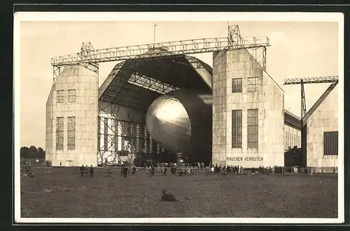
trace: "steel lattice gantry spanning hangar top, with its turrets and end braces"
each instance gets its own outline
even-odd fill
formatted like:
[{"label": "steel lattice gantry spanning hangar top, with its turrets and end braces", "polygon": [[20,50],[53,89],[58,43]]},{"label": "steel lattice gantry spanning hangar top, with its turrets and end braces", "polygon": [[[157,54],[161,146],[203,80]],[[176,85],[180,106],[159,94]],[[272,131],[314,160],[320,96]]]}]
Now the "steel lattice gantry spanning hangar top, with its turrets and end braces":
[{"label": "steel lattice gantry spanning hangar top, with its turrets and end braces", "polygon": [[[256,59],[262,56],[260,65],[266,70],[266,47],[269,45],[269,38],[243,38],[241,37],[238,25],[229,25],[228,37],[221,38],[198,38],[98,50],[94,50],[90,42],[83,43],[80,52],[54,57],[51,59],[51,65],[53,66],[55,81],[59,78],[59,73],[61,73],[66,65],[81,65],[98,73],[100,62],[114,62],[126,59],[151,59],[156,57],[216,52],[219,50],[247,49],[252,50]],[[262,52],[258,52],[258,50]]]}]

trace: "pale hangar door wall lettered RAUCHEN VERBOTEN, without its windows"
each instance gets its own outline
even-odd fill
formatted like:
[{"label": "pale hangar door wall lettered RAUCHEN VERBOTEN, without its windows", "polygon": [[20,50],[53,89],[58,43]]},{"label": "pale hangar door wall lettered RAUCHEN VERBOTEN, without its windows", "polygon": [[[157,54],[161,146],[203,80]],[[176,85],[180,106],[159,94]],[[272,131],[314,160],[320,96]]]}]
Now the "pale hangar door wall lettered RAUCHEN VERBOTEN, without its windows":
[{"label": "pale hangar door wall lettered RAUCHEN VERBOTEN, without its windows", "polygon": [[[247,50],[215,52],[213,59],[213,163],[283,165],[283,90]],[[248,77],[258,77],[258,91],[248,92]],[[232,93],[232,78],[242,78],[242,92]],[[232,148],[235,109],[242,110],[241,148]],[[248,109],[258,109],[258,148],[247,146]]]}]

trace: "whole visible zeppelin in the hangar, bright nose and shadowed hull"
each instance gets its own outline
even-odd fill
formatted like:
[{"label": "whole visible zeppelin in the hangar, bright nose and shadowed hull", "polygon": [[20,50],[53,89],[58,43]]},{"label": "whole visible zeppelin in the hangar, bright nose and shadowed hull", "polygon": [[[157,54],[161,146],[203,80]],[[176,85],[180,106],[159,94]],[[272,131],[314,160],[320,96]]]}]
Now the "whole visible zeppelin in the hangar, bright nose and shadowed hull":
[{"label": "whole visible zeppelin in the hangar, bright nose and shadowed hull", "polygon": [[211,94],[196,90],[174,90],[149,106],[146,125],[151,137],[188,162],[211,160]]}]

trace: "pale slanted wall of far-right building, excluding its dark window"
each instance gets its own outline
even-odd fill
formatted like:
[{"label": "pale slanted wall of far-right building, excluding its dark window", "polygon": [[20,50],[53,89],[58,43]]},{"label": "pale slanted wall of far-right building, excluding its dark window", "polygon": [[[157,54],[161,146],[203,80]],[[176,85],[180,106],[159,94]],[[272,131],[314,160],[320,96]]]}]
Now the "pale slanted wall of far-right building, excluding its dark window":
[{"label": "pale slanted wall of far-right building, excluding its dark window", "polygon": [[337,155],[323,155],[323,132],[339,131],[338,85],[307,120],[307,166],[337,167]]}]

